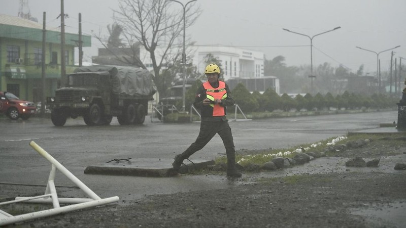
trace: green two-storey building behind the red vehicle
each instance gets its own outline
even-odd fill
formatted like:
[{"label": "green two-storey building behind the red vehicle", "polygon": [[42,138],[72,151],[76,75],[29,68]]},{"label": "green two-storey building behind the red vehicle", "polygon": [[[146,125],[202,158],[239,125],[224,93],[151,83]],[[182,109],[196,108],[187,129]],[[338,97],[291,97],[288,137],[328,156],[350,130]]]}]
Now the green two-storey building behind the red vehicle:
[{"label": "green two-storey building behind the red vehicle", "polygon": [[[0,91],[40,102],[42,98],[43,25],[9,15],[0,15]],[[65,72],[72,73],[79,35],[65,33]],[[46,30],[45,94],[53,96],[61,77],[61,33]],[[90,47],[91,36],[82,35],[82,47]]]}]

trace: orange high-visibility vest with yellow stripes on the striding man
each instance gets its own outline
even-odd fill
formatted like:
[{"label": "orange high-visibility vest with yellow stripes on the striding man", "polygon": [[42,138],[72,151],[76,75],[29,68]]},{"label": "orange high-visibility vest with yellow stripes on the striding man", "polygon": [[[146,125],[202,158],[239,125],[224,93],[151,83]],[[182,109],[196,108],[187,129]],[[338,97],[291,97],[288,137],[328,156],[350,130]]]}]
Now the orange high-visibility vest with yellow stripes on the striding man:
[{"label": "orange high-visibility vest with yellow stripes on the striding man", "polygon": [[[206,97],[213,101],[215,99],[226,99],[227,91],[225,90],[224,81],[219,81],[219,87],[213,88],[209,81],[203,83],[203,87],[206,89]],[[210,104],[213,107],[213,116],[225,116],[225,107],[220,106],[219,104]]]}]

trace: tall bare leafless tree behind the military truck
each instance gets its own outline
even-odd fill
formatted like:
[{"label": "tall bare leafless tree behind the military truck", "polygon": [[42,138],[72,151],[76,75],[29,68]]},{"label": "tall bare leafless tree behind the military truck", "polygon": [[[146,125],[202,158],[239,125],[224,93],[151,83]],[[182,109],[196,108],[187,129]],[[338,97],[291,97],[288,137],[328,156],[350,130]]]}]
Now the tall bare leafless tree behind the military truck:
[{"label": "tall bare leafless tree behind the military truck", "polygon": [[[114,20],[123,28],[128,45],[139,42],[149,53],[158,92],[164,94],[167,81],[162,68],[174,65],[181,58],[183,8],[169,0],[119,0]],[[171,7],[172,6],[172,7]],[[185,28],[200,14],[194,3],[185,9]],[[167,68],[165,68],[166,70]]]}]

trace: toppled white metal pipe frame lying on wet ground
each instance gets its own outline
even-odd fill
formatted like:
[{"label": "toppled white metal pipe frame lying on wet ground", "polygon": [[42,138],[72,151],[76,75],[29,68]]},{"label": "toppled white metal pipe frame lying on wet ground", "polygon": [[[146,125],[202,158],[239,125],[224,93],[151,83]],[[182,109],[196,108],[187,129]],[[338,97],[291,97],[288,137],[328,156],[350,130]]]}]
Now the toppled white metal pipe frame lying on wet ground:
[{"label": "toppled white metal pipe frame lying on wet ground", "polygon": [[[105,205],[109,203],[114,203],[119,201],[118,196],[101,199],[92,190],[90,190],[85,184],[82,183],[75,175],[73,175],[69,170],[67,170],[63,165],[61,165],[56,159],[54,159],[50,154],[48,154],[44,149],[38,146],[35,142],[31,141],[29,145],[35,149],[40,155],[47,159],[51,163],[51,172],[48,178],[47,188],[45,194],[35,197],[16,197],[15,200],[8,202],[1,202],[1,205],[27,202],[27,203],[52,203],[53,208],[48,210],[42,210],[21,215],[11,215],[0,209],[0,226],[12,224],[15,222],[21,222],[29,219],[41,218],[46,216],[51,216],[59,213],[81,210],[84,208],[95,207],[100,205]],[[55,189],[55,174],[56,170],[59,170],[67,178],[72,180],[86,195],[90,198],[58,198]],[[59,204],[72,204],[61,207]]]}]

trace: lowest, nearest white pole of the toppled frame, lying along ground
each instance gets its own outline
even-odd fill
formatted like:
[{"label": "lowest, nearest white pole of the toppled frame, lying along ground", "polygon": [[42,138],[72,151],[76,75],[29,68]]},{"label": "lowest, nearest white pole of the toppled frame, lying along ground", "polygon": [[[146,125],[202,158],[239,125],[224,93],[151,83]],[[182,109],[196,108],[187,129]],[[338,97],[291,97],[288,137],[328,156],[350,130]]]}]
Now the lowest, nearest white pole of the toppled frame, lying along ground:
[{"label": "lowest, nearest white pole of the toppled frame, lying along ground", "polygon": [[29,220],[29,219],[42,218],[42,217],[56,215],[56,214],[60,214],[60,213],[64,213],[64,212],[85,209],[88,207],[105,205],[105,204],[117,202],[118,200],[119,200],[118,196],[114,196],[114,197],[110,197],[110,198],[106,198],[106,199],[93,200],[91,202],[86,202],[86,203],[68,205],[68,206],[59,207],[59,208],[53,208],[53,209],[37,211],[37,212],[32,212],[32,213],[27,213],[27,214],[15,215],[15,216],[9,217],[9,218],[0,218],[0,226],[12,224],[15,222],[21,222],[21,221],[25,221],[25,220]]}]

